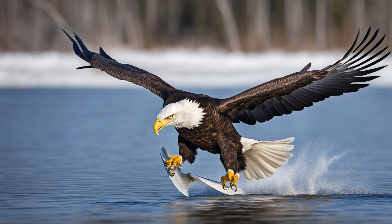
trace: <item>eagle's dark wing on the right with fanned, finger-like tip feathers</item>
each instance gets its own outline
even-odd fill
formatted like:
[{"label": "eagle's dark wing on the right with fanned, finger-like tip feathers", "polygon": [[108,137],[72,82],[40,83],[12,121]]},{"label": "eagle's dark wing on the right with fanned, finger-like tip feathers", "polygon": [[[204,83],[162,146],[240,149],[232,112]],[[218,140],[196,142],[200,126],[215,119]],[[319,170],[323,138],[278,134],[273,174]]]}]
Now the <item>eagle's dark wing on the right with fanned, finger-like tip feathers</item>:
[{"label": "eagle's dark wing on the right with fanned, finger-like tip feathers", "polygon": [[[325,100],[330,96],[355,92],[360,88],[368,86],[368,84],[353,83],[367,82],[379,77],[364,75],[378,71],[385,66],[368,70],[363,69],[377,64],[390,54],[389,51],[380,58],[375,59],[388,48],[385,47],[365,59],[366,56],[373,53],[374,49],[385,38],[384,35],[370,48],[369,46],[376,39],[378,29],[372,38],[366,42],[369,33],[370,27],[361,43],[355,47],[359,35],[358,31],[354,44],[352,44],[343,58],[335,64],[321,70],[307,71],[310,67],[310,64],[308,64],[300,72],[271,80],[233,97],[221,99],[218,101],[218,112],[227,115],[234,123],[256,124],[256,122],[265,122],[275,116],[290,114],[292,111],[300,111],[304,107],[310,107],[313,103]],[[360,55],[367,48],[370,49],[365,51],[366,53],[363,55]],[[356,51],[358,52],[356,53]],[[348,56],[354,53],[356,54],[346,60]]]}]

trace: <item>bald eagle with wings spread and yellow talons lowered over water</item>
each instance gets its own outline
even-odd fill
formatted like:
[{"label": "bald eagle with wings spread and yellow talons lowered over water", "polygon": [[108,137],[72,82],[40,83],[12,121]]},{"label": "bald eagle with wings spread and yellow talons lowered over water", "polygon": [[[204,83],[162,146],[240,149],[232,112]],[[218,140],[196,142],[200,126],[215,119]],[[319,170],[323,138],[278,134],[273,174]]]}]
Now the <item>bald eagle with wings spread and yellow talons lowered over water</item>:
[{"label": "bald eagle with wings spread and yellow talons lowered over water", "polygon": [[[64,31],[64,30],[63,30]],[[368,40],[370,27],[363,40],[357,46],[359,31],[354,43],[335,64],[320,70],[309,71],[310,63],[301,71],[282,78],[276,78],[243,91],[233,97],[219,99],[207,95],[195,94],[176,89],[143,69],[121,64],[111,58],[100,47],[100,53],[89,51],[82,40],[75,34],[76,41],[69,36],[76,55],[89,62],[90,66],[107,74],[143,86],[163,99],[163,108],[154,123],[158,135],[165,126],[173,126],[178,132],[178,155],[166,161],[170,175],[174,175],[183,161],[192,164],[197,149],[220,154],[220,160],[226,174],[221,177],[223,189],[230,182],[237,190],[240,172],[245,178],[258,180],[270,177],[275,170],[283,166],[292,154],[293,146],[289,143],[294,138],[276,141],[261,141],[244,138],[238,134],[233,123],[256,124],[265,122],[275,116],[290,114],[310,107],[330,96],[355,92],[368,86],[367,82],[379,76],[365,76],[385,66],[367,69],[386,58],[390,51],[383,54],[387,47],[376,51],[385,35],[378,42],[378,29]],[[78,46],[79,44],[79,46]],[[382,56],[378,57],[379,55]],[[351,57],[349,57],[352,55]],[[367,69],[367,70],[365,70]]]}]

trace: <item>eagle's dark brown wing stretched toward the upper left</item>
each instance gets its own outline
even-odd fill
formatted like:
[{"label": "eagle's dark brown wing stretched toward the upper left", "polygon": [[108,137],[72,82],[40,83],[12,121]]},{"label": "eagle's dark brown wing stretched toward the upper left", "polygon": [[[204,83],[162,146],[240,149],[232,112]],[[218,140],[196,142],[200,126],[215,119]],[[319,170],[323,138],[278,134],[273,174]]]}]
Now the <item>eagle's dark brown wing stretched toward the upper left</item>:
[{"label": "eagle's dark brown wing stretched toward the upper left", "polygon": [[148,71],[129,64],[118,63],[116,60],[107,55],[105,51],[103,51],[102,47],[100,47],[99,54],[89,51],[87,47],[83,44],[82,40],[80,40],[80,38],[75,33],[73,33],[76,41],[80,45],[79,48],[76,41],[65,31],[64,33],[71,40],[75,54],[86,62],[89,62],[91,65],[78,67],[77,69],[98,68],[115,78],[126,80],[136,85],[143,86],[152,93],[161,97],[163,100],[167,98],[167,95],[170,91],[175,89],[174,87],[163,81],[161,78],[149,73]]}]

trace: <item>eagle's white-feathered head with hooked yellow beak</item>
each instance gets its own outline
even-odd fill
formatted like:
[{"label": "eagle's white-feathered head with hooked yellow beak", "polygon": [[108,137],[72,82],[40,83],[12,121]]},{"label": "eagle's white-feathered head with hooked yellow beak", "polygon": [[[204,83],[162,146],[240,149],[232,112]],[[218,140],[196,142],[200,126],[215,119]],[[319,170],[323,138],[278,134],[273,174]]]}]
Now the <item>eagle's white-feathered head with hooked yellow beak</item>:
[{"label": "eagle's white-feathered head with hooked yellow beak", "polygon": [[154,131],[158,135],[165,126],[193,129],[198,127],[206,113],[200,103],[188,98],[175,103],[167,104],[156,116]]}]

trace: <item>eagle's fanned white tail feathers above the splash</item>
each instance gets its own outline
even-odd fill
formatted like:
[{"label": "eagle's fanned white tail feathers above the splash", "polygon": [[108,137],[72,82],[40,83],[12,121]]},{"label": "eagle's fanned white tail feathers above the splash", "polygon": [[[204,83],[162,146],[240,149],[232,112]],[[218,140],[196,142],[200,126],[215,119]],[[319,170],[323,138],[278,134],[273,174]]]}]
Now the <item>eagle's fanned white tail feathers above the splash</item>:
[{"label": "eagle's fanned white tail feathers above the splash", "polygon": [[292,156],[287,153],[294,148],[289,145],[293,137],[276,141],[260,141],[249,138],[241,138],[242,152],[246,159],[246,169],[242,171],[245,178],[256,180],[270,177],[278,167],[283,166],[287,159]]}]

